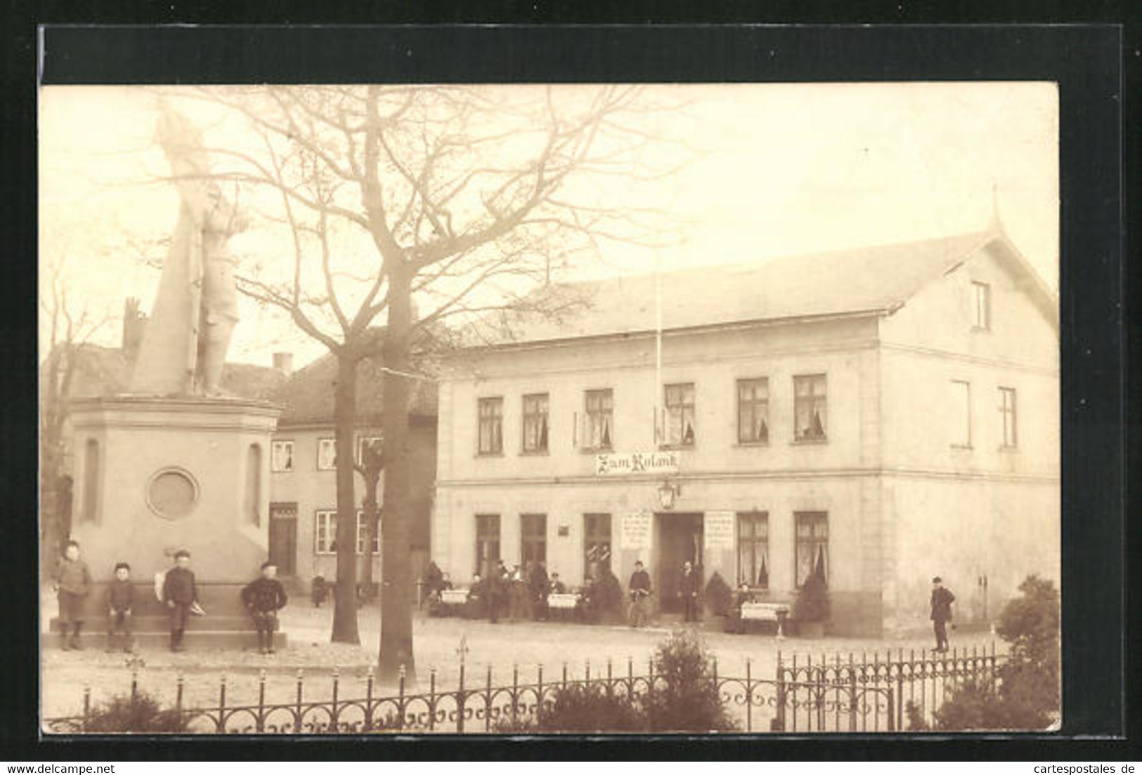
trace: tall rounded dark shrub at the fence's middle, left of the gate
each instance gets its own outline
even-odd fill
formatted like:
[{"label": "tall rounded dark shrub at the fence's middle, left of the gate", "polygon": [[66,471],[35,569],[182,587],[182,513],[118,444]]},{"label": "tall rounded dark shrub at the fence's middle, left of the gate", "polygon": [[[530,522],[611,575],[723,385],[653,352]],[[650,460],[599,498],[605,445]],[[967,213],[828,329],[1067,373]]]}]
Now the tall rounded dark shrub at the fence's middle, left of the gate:
[{"label": "tall rounded dark shrub at the fence's middle, left of the gate", "polygon": [[657,679],[643,700],[651,732],[737,728],[714,683],[713,659],[693,630],[678,630],[654,653]]}]

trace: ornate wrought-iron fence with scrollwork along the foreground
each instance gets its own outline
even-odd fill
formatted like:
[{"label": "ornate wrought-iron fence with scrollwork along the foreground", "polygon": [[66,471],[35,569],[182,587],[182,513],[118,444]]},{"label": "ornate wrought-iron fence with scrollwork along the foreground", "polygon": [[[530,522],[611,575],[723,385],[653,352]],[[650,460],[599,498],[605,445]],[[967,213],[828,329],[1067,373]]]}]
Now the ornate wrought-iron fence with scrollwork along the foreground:
[{"label": "ornate wrought-iron fence with scrollwork along the foreground", "polygon": [[[902,730],[903,705],[916,702],[922,712],[931,715],[950,686],[967,677],[994,681],[996,665],[1003,655],[992,646],[987,652],[949,654],[899,651],[891,654],[854,654],[847,659],[785,659],[779,653],[774,678],[753,675],[750,662],[745,675],[718,675],[717,663],[710,680],[731,717],[745,732],[895,732]],[[628,660],[625,670],[608,662],[604,671],[592,675],[590,664],[576,676],[563,665],[562,671],[545,673],[542,665],[528,677],[518,668],[512,670],[512,681],[496,683],[491,668],[475,681],[461,663],[457,684],[442,689],[435,670],[429,671],[427,692],[408,692],[402,676],[395,687],[379,692],[370,672],[363,693],[346,696],[343,680],[335,670],[331,693],[327,699],[306,696],[306,680],[297,673],[296,687],[289,702],[266,701],[266,673],[258,681],[257,702],[232,704],[227,681],[219,679],[218,700],[211,707],[186,707],[184,678],[177,678],[175,711],[186,733],[208,734],[362,734],[362,733],[486,733],[536,728],[545,712],[554,705],[557,693],[568,686],[588,686],[595,691],[620,695],[629,701],[643,700],[666,686],[656,673],[653,662],[646,672],[635,672]],[[131,694],[138,691],[137,671],[132,671]],[[45,720],[50,733],[83,733],[91,718],[89,689],[83,694],[80,716]]]}]

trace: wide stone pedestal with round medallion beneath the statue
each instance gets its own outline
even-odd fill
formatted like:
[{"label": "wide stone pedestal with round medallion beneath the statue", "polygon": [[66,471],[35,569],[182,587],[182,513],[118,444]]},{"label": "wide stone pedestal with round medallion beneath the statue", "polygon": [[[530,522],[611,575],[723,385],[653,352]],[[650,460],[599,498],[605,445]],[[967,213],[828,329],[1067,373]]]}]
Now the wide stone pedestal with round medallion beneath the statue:
[{"label": "wide stone pedestal with round medallion beneath the statue", "polygon": [[268,555],[270,439],[280,411],[198,396],[71,403],[72,538],[96,582],[87,598],[89,636],[105,631],[104,590],[115,563],[126,562],[136,586],[136,641],[164,645],[169,628],[154,574],[186,549],[207,615],[192,617],[185,644],[257,645],[239,592]]}]

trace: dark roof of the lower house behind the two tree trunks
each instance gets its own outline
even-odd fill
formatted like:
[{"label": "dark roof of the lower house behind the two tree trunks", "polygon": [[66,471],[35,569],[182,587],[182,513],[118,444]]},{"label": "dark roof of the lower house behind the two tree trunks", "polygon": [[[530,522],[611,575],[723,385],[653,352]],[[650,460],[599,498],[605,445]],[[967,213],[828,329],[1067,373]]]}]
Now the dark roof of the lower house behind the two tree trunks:
[{"label": "dark roof of the lower house behind the two tree trunks", "polygon": [[[428,379],[409,377],[412,384],[409,414],[436,417],[436,384]],[[272,401],[284,405],[279,426],[332,425],[333,384],[337,380],[337,358],[324,355],[304,369],[293,372],[282,384]],[[380,356],[361,361],[357,366],[357,425],[380,425],[384,401],[384,371]]]}]

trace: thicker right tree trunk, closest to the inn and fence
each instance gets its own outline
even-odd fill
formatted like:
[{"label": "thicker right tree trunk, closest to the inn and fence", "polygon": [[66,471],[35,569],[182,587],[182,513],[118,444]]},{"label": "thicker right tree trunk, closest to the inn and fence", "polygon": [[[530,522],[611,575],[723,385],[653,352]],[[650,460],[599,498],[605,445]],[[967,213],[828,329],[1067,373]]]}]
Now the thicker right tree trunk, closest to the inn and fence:
[{"label": "thicker right tree trunk, closest to the inn and fence", "polygon": [[[380,653],[383,681],[395,680],[404,668],[416,679],[412,655],[412,563],[410,558],[409,490],[409,329],[411,326],[411,277],[389,274],[388,326],[384,342],[384,457],[385,504],[380,523]],[[396,373],[402,372],[402,373]]]}]

